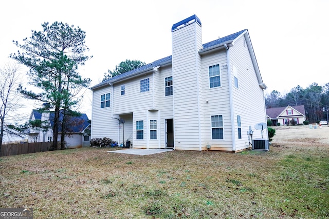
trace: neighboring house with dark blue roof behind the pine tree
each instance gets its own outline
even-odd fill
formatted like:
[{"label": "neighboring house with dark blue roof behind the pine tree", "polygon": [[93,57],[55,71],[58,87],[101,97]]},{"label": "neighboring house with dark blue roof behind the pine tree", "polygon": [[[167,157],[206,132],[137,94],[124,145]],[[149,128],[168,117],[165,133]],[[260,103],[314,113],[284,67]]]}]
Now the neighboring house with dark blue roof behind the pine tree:
[{"label": "neighboring house with dark blue roof behind the pine tree", "polygon": [[[32,127],[29,130],[29,142],[52,142],[54,112],[43,112],[32,110],[29,120],[39,120],[45,128]],[[60,123],[63,121],[63,113],[60,113]],[[84,113],[80,116],[70,117],[67,121],[65,145],[67,148],[79,148],[90,146],[90,121]],[[59,127],[58,141],[61,141],[62,127]]]}]

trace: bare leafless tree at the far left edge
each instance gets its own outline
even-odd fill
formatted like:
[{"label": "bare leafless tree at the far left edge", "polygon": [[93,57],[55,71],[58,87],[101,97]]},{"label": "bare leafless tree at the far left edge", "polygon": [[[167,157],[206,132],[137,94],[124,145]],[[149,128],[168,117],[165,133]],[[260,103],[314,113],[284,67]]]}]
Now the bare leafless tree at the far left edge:
[{"label": "bare leafless tree at the far left edge", "polygon": [[3,68],[0,69],[0,151],[2,146],[2,140],[4,136],[4,131],[7,128],[5,126],[6,121],[14,121],[15,111],[22,107],[20,104],[21,94],[17,90],[21,82],[21,77],[19,73],[19,66],[16,64],[5,64]]}]

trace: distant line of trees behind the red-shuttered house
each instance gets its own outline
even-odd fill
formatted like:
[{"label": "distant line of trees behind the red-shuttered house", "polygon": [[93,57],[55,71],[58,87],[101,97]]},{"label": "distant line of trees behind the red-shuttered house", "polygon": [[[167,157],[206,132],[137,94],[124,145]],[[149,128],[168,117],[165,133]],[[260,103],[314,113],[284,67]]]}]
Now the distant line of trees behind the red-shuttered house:
[{"label": "distant line of trees behind the red-shuttered house", "polygon": [[329,121],[329,83],[324,86],[313,83],[305,89],[298,85],[286,94],[273,90],[265,95],[265,105],[266,108],[304,105],[306,120],[310,123]]}]

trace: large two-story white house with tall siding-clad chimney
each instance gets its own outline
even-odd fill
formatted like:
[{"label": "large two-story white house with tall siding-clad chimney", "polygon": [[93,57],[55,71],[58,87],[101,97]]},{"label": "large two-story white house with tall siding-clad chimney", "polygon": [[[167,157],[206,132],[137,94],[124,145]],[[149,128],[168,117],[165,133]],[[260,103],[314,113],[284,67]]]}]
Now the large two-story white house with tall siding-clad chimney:
[{"label": "large two-story white house with tall siding-clad chimney", "polygon": [[174,24],[171,56],[90,88],[92,138],[148,149],[249,148],[249,126],[266,122],[267,87],[248,30],[202,44],[201,26],[195,15]]}]

